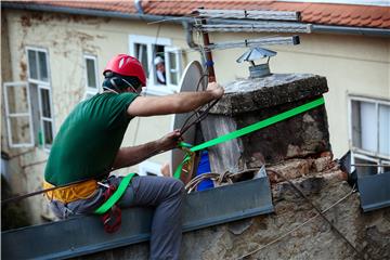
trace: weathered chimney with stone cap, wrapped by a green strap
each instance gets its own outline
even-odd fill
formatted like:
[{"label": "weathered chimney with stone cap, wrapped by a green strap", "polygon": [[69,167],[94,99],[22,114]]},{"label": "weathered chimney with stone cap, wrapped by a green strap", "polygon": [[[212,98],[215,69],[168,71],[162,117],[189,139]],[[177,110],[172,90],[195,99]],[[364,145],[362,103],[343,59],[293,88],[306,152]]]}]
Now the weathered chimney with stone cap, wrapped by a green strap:
[{"label": "weathered chimney with stone cap, wrapped by a green strap", "polygon": [[[308,74],[274,74],[233,81],[223,99],[203,121],[210,140],[286,112],[327,92],[325,77]],[[213,172],[236,172],[274,165],[290,158],[332,152],[324,105],[209,148]]]}]

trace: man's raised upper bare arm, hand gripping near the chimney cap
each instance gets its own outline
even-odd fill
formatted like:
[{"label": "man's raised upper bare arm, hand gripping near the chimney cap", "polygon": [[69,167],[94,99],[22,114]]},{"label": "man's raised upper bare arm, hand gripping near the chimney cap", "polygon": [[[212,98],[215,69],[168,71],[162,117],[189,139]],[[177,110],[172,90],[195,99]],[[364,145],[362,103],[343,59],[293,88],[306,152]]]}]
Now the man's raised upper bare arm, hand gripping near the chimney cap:
[{"label": "man's raised upper bare arm, hand gripping near the chimney cap", "polygon": [[208,102],[220,99],[223,89],[217,83],[210,83],[206,91],[183,92],[166,96],[139,96],[128,108],[130,116],[156,116],[180,114],[196,109]]}]

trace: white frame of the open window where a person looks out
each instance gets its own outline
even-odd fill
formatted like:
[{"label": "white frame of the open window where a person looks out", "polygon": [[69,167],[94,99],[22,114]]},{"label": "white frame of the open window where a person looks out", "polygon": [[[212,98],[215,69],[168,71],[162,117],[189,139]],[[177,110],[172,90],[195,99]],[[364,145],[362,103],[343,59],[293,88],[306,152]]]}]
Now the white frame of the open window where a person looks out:
[{"label": "white frame of the open window where a person looks out", "polygon": [[[156,37],[151,37],[151,36],[142,36],[142,35],[129,35],[129,52],[130,55],[135,56],[135,44],[145,44],[146,46],[146,55],[147,55],[147,64],[148,64],[148,75],[146,75],[147,78],[147,82],[146,82],[146,88],[144,88],[144,92],[147,95],[167,95],[167,94],[172,94],[174,92],[179,92],[179,83],[180,80],[178,80],[178,84],[174,86],[171,83],[170,80],[170,75],[168,76],[169,73],[167,73],[168,69],[170,69],[170,67],[167,66],[167,53],[168,52],[174,52],[176,53],[176,58],[178,62],[178,66],[179,66],[179,78],[181,77],[181,73],[182,73],[182,56],[181,56],[181,51],[179,48],[172,47],[172,40],[169,38],[156,38]],[[154,47],[155,46],[164,46],[164,57],[165,57],[165,65],[166,65],[166,81],[167,84],[161,86],[156,82],[156,67],[154,65],[154,57],[155,57],[155,53],[154,53]],[[168,57],[169,58],[169,57]],[[169,80],[168,80],[169,77]]]}]

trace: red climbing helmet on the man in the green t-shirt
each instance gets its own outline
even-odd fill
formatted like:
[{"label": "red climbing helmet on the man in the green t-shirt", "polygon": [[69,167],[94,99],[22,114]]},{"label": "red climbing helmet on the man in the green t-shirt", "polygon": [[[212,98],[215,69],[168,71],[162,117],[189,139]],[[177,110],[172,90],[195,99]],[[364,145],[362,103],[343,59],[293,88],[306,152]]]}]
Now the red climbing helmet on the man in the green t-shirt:
[{"label": "red climbing helmet on the man in the green t-shirt", "polygon": [[143,87],[146,86],[146,76],[142,64],[135,57],[127,54],[118,54],[114,56],[104,68],[103,75],[106,72],[113,72],[121,76],[136,77]]}]

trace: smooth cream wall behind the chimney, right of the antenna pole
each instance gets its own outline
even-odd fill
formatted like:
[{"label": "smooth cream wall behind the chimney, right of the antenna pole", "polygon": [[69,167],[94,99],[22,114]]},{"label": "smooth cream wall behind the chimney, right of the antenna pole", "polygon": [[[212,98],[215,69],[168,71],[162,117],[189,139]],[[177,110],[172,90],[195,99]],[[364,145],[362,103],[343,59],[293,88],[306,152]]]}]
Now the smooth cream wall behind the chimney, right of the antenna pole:
[{"label": "smooth cream wall behind the chimney, right of the antenna pole", "polygon": [[[263,36],[216,34],[211,39],[222,42]],[[301,35],[299,46],[265,48],[277,51],[270,61],[273,73],[311,73],[327,78],[329,92],[325,100],[336,158],[349,150],[348,94],[390,100],[389,38],[311,34]],[[248,65],[235,62],[244,52],[244,49],[234,49],[213,53],[220,82],[248,77]]]}]

